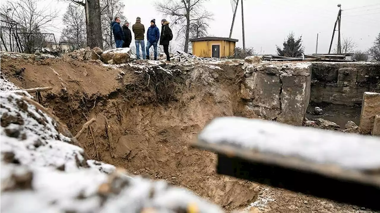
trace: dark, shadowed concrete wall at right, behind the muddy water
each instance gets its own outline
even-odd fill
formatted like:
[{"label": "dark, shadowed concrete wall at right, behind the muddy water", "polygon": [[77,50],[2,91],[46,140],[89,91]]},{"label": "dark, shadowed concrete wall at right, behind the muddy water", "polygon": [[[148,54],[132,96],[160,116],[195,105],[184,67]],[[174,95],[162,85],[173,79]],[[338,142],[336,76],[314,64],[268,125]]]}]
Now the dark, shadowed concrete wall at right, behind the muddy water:
[{"label": "dark, shadowed concrete wall at right, behind the muddy water", "polygon": [[380,63],[313,63],[312,102],[361,105],[366,91],[380,92]]}]

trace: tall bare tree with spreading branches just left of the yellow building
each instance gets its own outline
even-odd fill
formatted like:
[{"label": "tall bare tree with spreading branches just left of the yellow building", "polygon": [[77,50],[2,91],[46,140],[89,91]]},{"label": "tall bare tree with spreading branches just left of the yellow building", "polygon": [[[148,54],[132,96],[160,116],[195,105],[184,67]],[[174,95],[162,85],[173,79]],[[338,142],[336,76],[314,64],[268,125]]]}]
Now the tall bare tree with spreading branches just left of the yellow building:
[{"label": "tall bare tree with spreading branches just left of the yellow building", "polygon": [[206,11],[203,3],[207,0],[163,0],[156,2],[155,7],[161,13],[171,16],[174,25],[179,25],[177,38],[184,36],[184,52],[188,52],[190,28],[194,22],[206,23],[212,19],[212,14]]}]

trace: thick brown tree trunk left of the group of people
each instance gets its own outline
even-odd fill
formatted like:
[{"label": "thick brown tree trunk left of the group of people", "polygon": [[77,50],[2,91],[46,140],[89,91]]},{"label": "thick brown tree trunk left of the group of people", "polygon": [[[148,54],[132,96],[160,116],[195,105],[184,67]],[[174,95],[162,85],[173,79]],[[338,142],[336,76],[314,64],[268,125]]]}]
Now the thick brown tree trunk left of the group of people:
[{"label": "thick brown tree trunk left of the group of people", "polygon": [[103,49],[99,0],[86,0],[87,46]]}]

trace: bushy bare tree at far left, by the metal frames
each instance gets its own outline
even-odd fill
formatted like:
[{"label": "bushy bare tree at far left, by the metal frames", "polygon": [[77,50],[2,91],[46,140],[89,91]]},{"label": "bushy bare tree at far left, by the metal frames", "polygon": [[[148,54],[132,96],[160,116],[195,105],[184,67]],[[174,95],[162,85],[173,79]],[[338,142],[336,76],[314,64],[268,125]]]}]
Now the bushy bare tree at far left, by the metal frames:
[{"label": "bushy bare tree at far left, by the metal frames", "polygon": [[[38,8],[40,0],[16,0],[9,2],[9,6],[14,11],[13,17],[21,27],[21,42],[24,52],[33,53],[46,43],[46,38],[41,30],[46,29],[50,23],[58,16],[58,12],[49,9],[48,6]],[[18,38],[18,37],[17,37]]]}]

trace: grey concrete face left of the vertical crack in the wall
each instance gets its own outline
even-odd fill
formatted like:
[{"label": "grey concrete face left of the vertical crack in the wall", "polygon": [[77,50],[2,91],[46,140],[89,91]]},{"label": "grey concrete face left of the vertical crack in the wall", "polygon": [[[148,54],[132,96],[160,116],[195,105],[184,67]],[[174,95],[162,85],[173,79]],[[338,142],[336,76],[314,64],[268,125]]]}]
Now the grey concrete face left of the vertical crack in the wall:
[{"label": "grey concrete face left of the vertical crack in the wall", "polygon": [[280,108],[280,77],[254,73],[253,80],[246,80],[249,89],[253,92],[252,102],[255,106],[266,108]]}]

